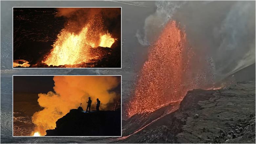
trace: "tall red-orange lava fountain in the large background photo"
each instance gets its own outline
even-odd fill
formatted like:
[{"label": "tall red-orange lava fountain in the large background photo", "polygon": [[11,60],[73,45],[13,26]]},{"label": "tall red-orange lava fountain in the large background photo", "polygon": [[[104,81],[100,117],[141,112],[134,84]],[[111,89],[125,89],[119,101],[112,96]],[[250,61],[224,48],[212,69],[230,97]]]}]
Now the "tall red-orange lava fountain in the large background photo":
[{"label": "tall red-orange lava fountain in the large background photo", "polygon": [[[180,101],[187,91],[200,87],[205,77],[200,72],[203,64],[195,65],[195,53],[186,43],[185,31],[175,21],[168,22],[151,45],[139,73],[135,93],[126,109],[128,117]],[[197,76],[203,77],[200,82],[193,80]]]}]

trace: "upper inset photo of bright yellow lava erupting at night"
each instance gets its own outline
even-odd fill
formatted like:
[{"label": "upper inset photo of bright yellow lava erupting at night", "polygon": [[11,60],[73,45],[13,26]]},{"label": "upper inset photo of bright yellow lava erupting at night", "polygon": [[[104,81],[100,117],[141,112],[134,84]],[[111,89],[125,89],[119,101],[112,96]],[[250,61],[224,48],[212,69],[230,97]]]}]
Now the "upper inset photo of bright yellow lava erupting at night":
[{"label": "upper inset photo of bright yellow lava erupting at night", "polygon": [[121,7],[13,7],[13,68],[121,68]]}]

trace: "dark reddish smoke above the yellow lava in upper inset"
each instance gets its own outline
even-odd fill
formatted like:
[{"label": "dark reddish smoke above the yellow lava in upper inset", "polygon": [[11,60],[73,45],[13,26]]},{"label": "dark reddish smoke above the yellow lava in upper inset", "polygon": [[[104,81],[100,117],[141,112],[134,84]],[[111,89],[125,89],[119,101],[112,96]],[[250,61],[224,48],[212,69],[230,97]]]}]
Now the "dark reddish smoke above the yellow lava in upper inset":
[{"label": "dark reddish smoke above the yellow lava in upper inset", "polygon": [[56,8],[55,16],[67,18],[65,29],[79,32],[89,20],[94,19],[95,25],[104,24],[104,31],[108,31],[115,38],[120,39],[121,8]]}]

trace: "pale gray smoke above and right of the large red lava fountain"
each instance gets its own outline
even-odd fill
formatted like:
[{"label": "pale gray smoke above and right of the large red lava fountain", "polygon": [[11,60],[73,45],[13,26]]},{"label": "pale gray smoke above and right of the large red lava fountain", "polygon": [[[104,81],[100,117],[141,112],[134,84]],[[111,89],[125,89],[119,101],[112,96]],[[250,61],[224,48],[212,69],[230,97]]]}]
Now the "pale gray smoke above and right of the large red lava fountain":
[{"label": "pale gray smoke above and right of the large red lava fountain", "polygon": [[137,32],[141,45],[176,20],[197,55],[211,58],[215,81],[255,63],[255,1],[157,1],[156,7]]}]

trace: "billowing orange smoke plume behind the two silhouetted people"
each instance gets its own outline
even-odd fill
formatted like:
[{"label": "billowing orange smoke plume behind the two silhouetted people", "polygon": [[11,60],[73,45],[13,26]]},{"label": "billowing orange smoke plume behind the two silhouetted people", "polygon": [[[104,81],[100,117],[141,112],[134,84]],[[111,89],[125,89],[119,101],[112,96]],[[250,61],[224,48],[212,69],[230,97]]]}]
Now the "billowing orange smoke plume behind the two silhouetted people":
[{"label": "billowing orange smoke plume behind the two silhouetted people", "polygon": [[54,92],[38,94],[38,103],[44,109],[32,116],[35,131],[41,135],[54,129],[55,122],[80,103],[85,110],[88,97],[92,100],[91,110],[96,109],[96,98],[101,102],[101,110],[110,110],[110,104],[120,98],[120,94],[111,91],[120,83],[116,76],[54,76],[53,81]]}]

